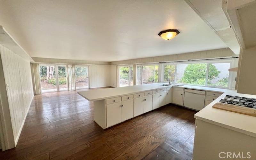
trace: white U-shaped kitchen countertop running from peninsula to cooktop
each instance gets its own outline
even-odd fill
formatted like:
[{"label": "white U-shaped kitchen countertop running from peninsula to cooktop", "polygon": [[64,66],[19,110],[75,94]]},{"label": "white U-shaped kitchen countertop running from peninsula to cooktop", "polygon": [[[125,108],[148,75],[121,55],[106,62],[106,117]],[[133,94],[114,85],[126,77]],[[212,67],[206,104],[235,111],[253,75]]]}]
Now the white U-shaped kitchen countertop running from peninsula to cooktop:
[{"label": "white U-shaped kitchen countertop running from peninsula to cooktop", "polygon": [[[107,89],[98,89],[91,91],[78,92],[81,96],[89,101],[94,100],[104,100],[113,97],[120,97],[129,94],[135,94],[139,92],[146,92],[154,89],[168,88],[171,86],[162,86],[161,84],[166,83],[155,83],[155,84],[143,84],[135,85],[129,87],[117,87],[117,88],[107,88]],[[173,86],[174,87],[174,86]],[[233,95],[240,97],[256,98],[256,95],[249,94],[240,94],[236,90],[220,89],[220,88],[210,88],[210,87],[201,87],[201,86],[175,86],[180,88],[212,91],[212,92],[223,92],[223,94],[214,100],[212,103],[207,105],[204,109],[197,112],[194,117],[203,120],[205,122],[219,125],[237,132],[241,132],[253,137],[256,137],[256,117],[247,116],[235,112],[229,112],[217,108],[212,108],[212,106],[219,102],[225,95]]]}]

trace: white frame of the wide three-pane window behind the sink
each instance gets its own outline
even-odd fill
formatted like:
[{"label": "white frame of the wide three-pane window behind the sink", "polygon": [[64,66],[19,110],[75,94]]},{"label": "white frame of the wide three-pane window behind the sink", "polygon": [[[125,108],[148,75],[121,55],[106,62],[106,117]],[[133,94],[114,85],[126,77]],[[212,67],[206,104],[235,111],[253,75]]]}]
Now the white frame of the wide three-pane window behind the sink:
[{"label": "white frame of the wide three-pane window behind the sink", "polygon": [[[195,84],[183,84],[183,83],[177,83],[177,65],[178,64],[197,64],[197,63],[207,63],[207,68],[206,68],[206,79],[205,79],[205,85],[195,85]],[[232,60],[208,60],[208,61],[194,61],[194,62],[173,62],[173,63],[164,63],[162,64],[162,76],[161,76],[161,80],[164,83],[169,83],[169,82],[165,82],[164,81],[164,65],[176,65],[175,66],[175,78],[174,78],[174,84],[182,84],[182,85],[191,85],[191,86],[202,86],[202,87],[211,87],[211,88],[222,88],[222,89],[228,89],[231,83],[231,79],[230,79],[230,72],[228,73],[228,87],[219,87],[219,86],[211,86],[208,85],[208,75],[209,75],[209,65],[210,64],[216,64],[216,63],[229,63],[229,68],[231,66]],[[227,69],[229,69],[227,68]]]}]

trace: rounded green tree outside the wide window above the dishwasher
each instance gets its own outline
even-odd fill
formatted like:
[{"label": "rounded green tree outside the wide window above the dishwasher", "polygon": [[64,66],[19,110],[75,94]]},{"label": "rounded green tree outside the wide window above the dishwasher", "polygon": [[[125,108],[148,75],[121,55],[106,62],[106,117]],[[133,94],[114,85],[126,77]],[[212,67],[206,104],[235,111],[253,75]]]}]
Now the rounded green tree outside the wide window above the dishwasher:
[{"label": "rounded green tree outside the wide window above the dishwasher", "polygon": [[[179,83],[205,85],[206,69],[206,63],[188,64]],[[211,81],[212,79],[217,78],[219,74],[220,71],[214,65],[209,64],[208,80]]]}]

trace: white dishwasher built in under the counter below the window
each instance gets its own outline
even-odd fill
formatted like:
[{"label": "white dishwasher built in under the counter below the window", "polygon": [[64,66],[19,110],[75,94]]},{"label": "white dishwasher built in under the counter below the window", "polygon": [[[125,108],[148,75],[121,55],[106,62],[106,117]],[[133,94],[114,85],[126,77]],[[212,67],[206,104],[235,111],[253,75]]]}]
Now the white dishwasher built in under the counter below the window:
[{"label": "white dishwasher built in under the counter below the window", "polygon": [[201,110],[204,108],[205,91],[185,89],[184,107],[194,110]]}]

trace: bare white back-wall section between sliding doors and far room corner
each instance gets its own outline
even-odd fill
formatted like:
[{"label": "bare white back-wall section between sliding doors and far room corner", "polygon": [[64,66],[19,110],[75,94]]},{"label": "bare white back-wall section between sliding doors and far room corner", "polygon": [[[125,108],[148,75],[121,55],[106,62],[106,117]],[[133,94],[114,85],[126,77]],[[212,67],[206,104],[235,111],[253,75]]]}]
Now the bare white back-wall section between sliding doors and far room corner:
[{"label": "bare white back-wall section between sliding doors and far room corner", "polygon": [[110,66],[90,65],[89,85],[90,88],[110,86]]}]

